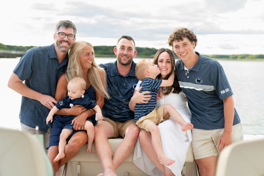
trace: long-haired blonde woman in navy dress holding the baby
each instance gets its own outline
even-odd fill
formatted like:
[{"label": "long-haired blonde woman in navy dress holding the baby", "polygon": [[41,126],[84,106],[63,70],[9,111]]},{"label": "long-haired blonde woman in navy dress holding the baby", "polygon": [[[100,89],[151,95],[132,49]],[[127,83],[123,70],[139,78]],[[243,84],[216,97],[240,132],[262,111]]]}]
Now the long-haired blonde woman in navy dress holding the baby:
[{"label": "long-haired blonde woman in navy dress holding the baby", "polygon": [[[98,76],[100,76],[100,79],[98,79]],[[55,93],[56,101],[67,95],[68,82],[74,77],[82,77],[86,81],[85,93],[102,108],[104,97],[109,98],[106,92],[106,74],[94,61],[94,51],[91,43],[78,41],[70,49],[67,70],[58,80]],[[87,142],[87,133],[83,131],[84,124],[87,117],[90,117],[93,124],[95,124],[95,113],[94,109],[86,109],[79,105],[74,105],[72,108],[63,108],[56,113],[48,147],[48,156],[53,165],[54,175],[62,165],[77,155],[80,148]],[[69,136],[68,144],[65,146],[65,157],[58,162],[54,162],[56,155],[59,153],[59,136],[64,126],[63,118],[60,115],[75,115],[76,118],[72,121],[74,122],[74,132]]]}]

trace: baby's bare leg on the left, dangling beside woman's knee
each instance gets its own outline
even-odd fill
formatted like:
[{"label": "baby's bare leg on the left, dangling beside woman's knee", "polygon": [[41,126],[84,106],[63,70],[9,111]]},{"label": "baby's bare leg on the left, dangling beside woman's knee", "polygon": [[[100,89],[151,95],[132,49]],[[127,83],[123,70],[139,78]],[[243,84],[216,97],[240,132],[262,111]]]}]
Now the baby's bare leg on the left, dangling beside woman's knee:
[{"label": "baby's bare leg on the left, dangling beside woman's knee", "polygon": [[59,161],[60,159],[65,157],[64,150],[67,144],[66,139],[72,134],[73,130],[69,128],[64,128],[62,133],[60,133],[60,142],[59,142],[59,154],[53,160],[54,162]]}]

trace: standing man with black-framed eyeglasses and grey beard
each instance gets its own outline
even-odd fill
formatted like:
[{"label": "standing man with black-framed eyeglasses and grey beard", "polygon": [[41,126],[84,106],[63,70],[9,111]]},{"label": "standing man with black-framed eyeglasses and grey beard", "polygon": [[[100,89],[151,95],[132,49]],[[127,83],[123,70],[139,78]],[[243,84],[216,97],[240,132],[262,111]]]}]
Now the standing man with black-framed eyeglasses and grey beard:
[{"label": "standing man with black-framed eyeglasses and grey beard", "polygon": [[34,134],[35,127],[39,126],[40,133],[44,134],[45,148],[50,137],[46,116],[53,103],[57,103],[54,99],[57,81],[66,70],[68,51],[76,40],[75,36],[76,27],[71,21],[59,21],[53,36],[55,43],[28,50],[8,81],[8,87],[22,95],[21,130]]}]

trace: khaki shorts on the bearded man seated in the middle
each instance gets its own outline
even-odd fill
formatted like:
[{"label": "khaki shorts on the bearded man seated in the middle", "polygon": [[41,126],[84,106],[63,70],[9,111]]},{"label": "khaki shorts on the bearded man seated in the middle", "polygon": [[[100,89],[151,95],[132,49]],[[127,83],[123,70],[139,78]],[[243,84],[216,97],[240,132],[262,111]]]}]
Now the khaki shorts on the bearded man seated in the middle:
[{"label": "khaki shorts on the bearded man seated in the middle", "polygon": [[122,136],[122,138],[124,138],[126,128],[128,128],[128,126],[131,124],[135,124],[135,119],[131,119],[125,122],[118,122],[118,121],[114,121],[109,118],[103,117],[103,120],[110,123],[114,129],[114,135],[111,138],[117,138],[119,136]]}]

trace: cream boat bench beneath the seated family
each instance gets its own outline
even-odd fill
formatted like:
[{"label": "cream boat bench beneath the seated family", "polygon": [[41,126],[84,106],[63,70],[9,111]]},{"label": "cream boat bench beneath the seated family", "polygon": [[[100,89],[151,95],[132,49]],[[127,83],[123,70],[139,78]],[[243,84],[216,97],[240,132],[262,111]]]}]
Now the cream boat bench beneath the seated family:
[{"label": "cream boat bench beneath the seated family", "polygon": [[[116,150],[117,146],[122,142],[122,138],[116,138],[116,139],[108,139],[111,147],[112,152]],[[92,147],[92,153],[86,153],[86,147],[87,144],[82,146],[81,150],[79,151],[78,155],[72,158],[68,163],[67,168],[67,176],[69,175],[76,175],[78,176],[78,172],[80,175],[97,175],[99,173],[103,172],[103,167],[100,163],[100,160],[96,154],[96,150],[93,144]],[[134,150],[133,150],[134,152]],[[117,175],[125,175],[125,176],[145,176],[148,175],[144,173],[141,169],[139,169],[134,163],[133,163],[133,152],[129,157],[122,163],[119,168],[116,169]],[[187,157],[185,163],[192,163],[194,162],[194,155],[192,152],[192,147],[188,148]],[[85,173],[85,174],[84,174]],[[87,175],[88,174],[88,175]],[[63,175],[62,170],[60,170],[60,173],[56,175]]]}]

